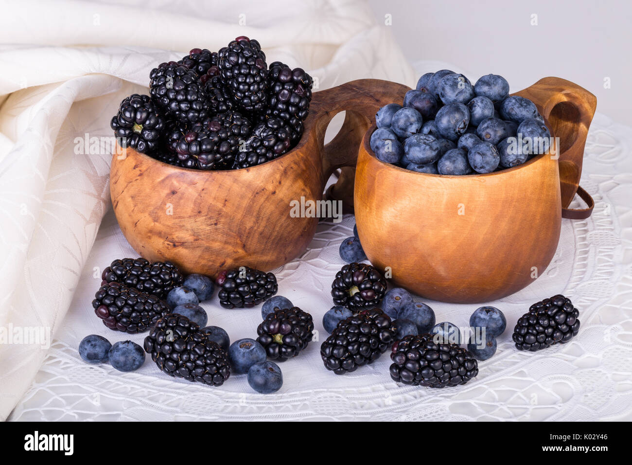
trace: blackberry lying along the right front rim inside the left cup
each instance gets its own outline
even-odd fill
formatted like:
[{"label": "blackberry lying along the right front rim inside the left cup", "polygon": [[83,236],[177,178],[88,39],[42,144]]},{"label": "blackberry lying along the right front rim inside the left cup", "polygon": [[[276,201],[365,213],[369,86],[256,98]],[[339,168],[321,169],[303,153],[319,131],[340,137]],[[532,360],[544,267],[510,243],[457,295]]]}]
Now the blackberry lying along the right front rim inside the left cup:
[{"label": "blackberry lying along the right front rim inside the left cup", "polygon": [[237,154],[233,168],[250,168],[275,159],[288,151],[291,145],[291,131],[279,118],[266,118],[258,123],[245,144],[244,150]]}]

